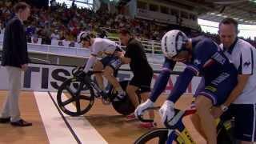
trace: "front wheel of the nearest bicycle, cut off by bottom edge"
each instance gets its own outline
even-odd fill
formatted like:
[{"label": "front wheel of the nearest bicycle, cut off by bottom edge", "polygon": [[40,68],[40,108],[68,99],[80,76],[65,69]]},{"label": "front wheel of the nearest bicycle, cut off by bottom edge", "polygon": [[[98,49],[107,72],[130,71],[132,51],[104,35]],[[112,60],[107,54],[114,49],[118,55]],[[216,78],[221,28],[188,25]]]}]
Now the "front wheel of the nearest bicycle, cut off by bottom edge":
[{"label": "front wheel of the nearest bicycle, cut off by bottom edge", "polygon": [[[158,128],[155,130],[150,130],[148,133],[143,134],[140,138],[138,138],[134,142],[134,144],[150,144],[150,143],[166,144],[167,138],[168,138],[168,129]],[[178,137],[178,133],[173,134],[173,139],[174,140],[170,142],[172,144],[185,144],[182,138]]]}]

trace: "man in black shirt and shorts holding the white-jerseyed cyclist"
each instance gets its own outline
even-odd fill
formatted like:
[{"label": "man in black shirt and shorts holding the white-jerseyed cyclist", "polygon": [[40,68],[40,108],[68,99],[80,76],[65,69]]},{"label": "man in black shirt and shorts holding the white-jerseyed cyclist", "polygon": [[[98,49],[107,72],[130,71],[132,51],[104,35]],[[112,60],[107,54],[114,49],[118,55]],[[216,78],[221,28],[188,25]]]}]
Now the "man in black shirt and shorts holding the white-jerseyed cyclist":
[{"label": "man in black shirt and shorts holding the white-jerseyed cyclist", "polygon": [[[131,102],[135,107],[138,106],[137,90],[142,91],[142,100],[145,101],[150,94],[150,84],[153,78],[153,70],[147,61],[146,53],[143,46],[135,38],[132,37],[129,30],[122,29],[119,31],[119,38],[122,45],[126,46],[126,53],[122,54],[122,63],[130,64],[130,70],[133,72],[134,77],[131,79],[130,84],[127,86],[126,92],[129,95]],[[134,114],[128,118],[135,118]],[[154,111],[150,111],[150,118],[154,118]],[[154,122],[142,123],[143,127],[154,127]]]}]

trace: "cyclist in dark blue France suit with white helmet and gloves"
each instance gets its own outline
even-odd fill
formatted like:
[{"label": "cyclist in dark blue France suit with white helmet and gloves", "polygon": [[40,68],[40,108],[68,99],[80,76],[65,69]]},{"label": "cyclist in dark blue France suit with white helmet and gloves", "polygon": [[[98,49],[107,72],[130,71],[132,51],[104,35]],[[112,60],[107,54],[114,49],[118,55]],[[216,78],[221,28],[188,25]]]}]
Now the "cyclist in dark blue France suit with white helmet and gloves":
[{"label": "cyclist in dark blue France suit with white helmet and gloves", "polygon": [[[209,144],[216,144],[217,133],[214,117],[210,114],[212,106],[221,105],[237,84],[237,70],[226,58],[218,45],[208,38],[187,38],[180,30],[170,30],[162,38],[162,51],[175,62],[184,62],[186,69],[178,77],[166,102],[159,110],[162,122],[169,122],[174,116],[174,103],[185,92],[191,79],[200,74],[205,88],[195,101],[200,125]],[[150,100],[154,99],[150,97]],[[152,100],[151,100],[152,101]],[[148,102],[147,105],[152,105]],[[146,106],[144,106],[146,107]]]}]

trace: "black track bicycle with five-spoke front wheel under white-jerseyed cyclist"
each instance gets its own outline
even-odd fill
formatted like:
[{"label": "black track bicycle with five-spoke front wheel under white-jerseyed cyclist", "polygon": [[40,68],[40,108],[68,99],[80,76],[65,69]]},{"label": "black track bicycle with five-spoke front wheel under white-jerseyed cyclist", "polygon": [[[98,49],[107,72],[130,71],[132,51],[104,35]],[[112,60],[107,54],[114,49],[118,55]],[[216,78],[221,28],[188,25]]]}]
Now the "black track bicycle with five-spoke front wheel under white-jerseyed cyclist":
[{"label": "black track bicycle with five-spoke front wheel under white-jerseyed cyclist", "polygon": [[[97,82],[92,79],[92,75],[102,73],[102,71],[89,71],[83,78],[78,77],[83,67],[76,67],[72,70],[73,77],[67,79],[58,89],[57,102],[60,109],[70,116],[80,116],[86,114],[94,105],[94,98],[102,98],[103,104],[112,104],[114,110],[119,114],[127,115],[134,112],[135,108],[130,102],[130,98],[126,94],[124,98],[117,97],[117,92],[114,87],[108,84],[108,90],[105,92],[101,90]],[[114,72],[117,77],[118,70]],[[119,82],[123,90],[126,90],[129,81]],[[138,91],[138,98],[140,98],[140,91]],[[66,95],[70,95],[67,97]],[[75,110],[70,108],[70,104],[74,104]]]}]

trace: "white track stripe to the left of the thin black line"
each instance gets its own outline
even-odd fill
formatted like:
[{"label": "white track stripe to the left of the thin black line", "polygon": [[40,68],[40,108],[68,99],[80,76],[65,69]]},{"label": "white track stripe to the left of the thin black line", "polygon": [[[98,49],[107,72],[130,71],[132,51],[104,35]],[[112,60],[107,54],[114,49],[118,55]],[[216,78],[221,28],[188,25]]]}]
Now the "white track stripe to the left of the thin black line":
[{"label": "white track stripe to the left of the thin black line", "polygon": [[48,140],[53,144],[73,144],[78,143],[70,133],[61,115],[46,92],[34,92],[34,97],[38,104],[39,113],[48,136]]}]

